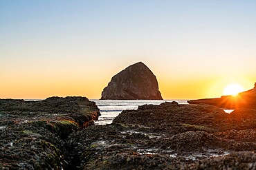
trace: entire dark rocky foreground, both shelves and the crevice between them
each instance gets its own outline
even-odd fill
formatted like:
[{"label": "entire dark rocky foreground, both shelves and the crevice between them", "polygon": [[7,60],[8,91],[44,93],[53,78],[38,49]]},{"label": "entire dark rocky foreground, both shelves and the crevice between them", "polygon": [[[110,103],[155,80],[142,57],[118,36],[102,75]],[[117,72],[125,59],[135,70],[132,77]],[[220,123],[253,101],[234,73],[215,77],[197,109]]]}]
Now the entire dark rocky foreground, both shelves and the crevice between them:
[{"label": "entire dark rocky foreground, both shelves and the crevice between them", "polygon": [[68,100],[82,117],[43,103],[47,113],[0,112],[0,169],[256,169],[255,109],[143,105],[84,128],[99,115],[94,103]]}]

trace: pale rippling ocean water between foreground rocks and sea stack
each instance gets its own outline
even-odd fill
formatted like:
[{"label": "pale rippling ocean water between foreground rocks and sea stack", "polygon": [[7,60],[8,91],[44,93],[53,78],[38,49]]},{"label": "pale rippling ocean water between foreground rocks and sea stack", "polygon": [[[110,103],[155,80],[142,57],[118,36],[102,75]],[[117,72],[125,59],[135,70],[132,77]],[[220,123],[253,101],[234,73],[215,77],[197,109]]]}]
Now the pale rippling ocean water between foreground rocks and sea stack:
[{"label": "pale rippling ocean water between foreground rocks and sea stack", "polygon": [[188,104],[187,100],[92,100],[98,105],[101,116],[95,125],[112,123],[113,119],[123,110],[138,109],[140,105],[160,105],[161,103],[176,101],[179,104]]}]

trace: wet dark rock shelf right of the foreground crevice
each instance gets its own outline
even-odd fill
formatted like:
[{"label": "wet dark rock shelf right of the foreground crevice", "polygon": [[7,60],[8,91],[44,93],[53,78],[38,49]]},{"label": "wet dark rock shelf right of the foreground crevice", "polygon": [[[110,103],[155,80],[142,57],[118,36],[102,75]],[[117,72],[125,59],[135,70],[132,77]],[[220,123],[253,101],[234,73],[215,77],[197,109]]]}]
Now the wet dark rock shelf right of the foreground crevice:
[{"label": "wet dark rock shelf right of the foreground crevice", "polygon": [[71,134],[68,147],[77,169],[256,169],[255,114],[143,105],[122,111],[111,125]]}]

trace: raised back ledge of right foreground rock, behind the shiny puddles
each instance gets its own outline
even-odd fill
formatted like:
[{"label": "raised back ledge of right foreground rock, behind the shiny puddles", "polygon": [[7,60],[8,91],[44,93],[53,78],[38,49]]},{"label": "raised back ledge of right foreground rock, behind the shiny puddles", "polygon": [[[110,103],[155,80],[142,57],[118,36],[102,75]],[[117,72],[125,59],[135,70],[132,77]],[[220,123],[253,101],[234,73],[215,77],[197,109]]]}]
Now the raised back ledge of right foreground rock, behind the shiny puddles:
[{"label": "raised back ledge of right foreground rock, behind the shiny puddles", "polygon": [[122,111],[113,123],[126,123],[143,126],[193,125],[204,131],[227,131],[231,129],[256,129],[255,109],[236,109],[226,114],[223,109],[210,105],[143,105],[137,110]]}]

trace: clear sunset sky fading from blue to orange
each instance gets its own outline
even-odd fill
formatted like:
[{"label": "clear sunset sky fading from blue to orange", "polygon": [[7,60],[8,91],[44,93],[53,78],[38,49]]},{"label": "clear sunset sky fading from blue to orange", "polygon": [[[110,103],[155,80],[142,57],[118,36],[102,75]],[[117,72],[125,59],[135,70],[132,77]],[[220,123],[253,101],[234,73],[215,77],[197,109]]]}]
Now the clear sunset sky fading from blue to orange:
[{"label": "clear sunset sky fading from blue to orange", "polygon": [[0,0],[0,98],[100,98],[142,61],[164,99],[252,89],[254,0]]}]

